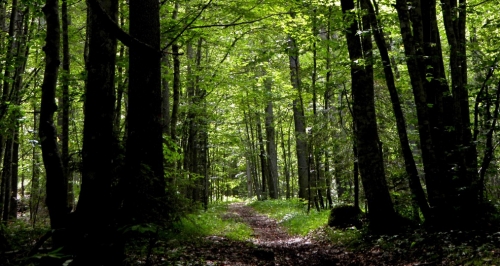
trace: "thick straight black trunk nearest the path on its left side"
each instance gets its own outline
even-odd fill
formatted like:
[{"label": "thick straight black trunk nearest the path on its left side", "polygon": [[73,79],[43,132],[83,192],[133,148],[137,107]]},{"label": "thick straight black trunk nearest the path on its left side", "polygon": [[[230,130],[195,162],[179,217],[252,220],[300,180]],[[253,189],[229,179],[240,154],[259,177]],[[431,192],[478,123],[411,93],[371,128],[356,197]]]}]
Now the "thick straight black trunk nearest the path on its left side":
[{"label": "thick straight black trunk nearest the path on its left side", "polygon": [[152,49],[130,47],[124,206],[128,217],[149,220],[165,195],[158,1],[130,1],[130,34]]}]

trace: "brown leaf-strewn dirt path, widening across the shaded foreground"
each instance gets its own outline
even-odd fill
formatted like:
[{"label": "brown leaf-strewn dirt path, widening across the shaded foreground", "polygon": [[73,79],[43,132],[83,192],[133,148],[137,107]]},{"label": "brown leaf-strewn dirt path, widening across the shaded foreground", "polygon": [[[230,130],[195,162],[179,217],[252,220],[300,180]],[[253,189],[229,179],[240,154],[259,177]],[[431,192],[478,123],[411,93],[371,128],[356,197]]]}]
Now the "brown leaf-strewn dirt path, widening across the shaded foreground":
[{"label": "brown leaf-strewn dirt path, widening across the shaded foreground", "polygon": [[177,250],[180,256],[171,265],[437,265],[411,262],[378,248],[349,251],[327,241],[292,236],[275,220],[256,213],[244,203],[231,204],[224,218],[248,224],[254,230],[253,238],[233,241],[207,237]]}]

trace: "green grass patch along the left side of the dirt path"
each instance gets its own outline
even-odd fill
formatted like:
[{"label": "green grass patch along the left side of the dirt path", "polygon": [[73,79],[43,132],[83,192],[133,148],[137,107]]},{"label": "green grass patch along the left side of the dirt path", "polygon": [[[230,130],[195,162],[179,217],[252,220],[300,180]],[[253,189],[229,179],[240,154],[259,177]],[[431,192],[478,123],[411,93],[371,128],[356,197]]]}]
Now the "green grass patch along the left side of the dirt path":
[{"label": "green grass patch along the left side of the dirt path", "polygon": [[231,240],[246,240],[252,229],[237,219],[226,217],[229,202],[212,204],[207,211],[189,214],[174,224],[170,239],[191,241],[205,236],[221,236]]}]

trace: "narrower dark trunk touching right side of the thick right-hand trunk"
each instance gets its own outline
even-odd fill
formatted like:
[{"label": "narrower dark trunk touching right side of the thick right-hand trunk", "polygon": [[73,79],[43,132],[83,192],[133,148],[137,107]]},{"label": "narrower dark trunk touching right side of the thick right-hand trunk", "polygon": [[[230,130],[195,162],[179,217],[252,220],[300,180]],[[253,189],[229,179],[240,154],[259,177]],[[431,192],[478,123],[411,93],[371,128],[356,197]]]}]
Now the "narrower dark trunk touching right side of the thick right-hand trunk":
[{"label": "narrower dark trunk touching right side of the thick right-hand trunk", "polygon": [[[458,5],[457,5],[458,2]],[[467,58],[466,58],[466,6],[465,0],[441,0],[443,21],[450,47],[451,92],[453,94],[453,118],[455,144],[453,147],[454,163],[458,179],[454,188],[457,192],[458,205],[462,218],[470,216],[477,210],[479,191],[477,150],[472,139],[469,112],[469,94],[467,91]],[[465,190],[463,189],[465,188]],[[460,192],[458,192],[460,191]]]}]

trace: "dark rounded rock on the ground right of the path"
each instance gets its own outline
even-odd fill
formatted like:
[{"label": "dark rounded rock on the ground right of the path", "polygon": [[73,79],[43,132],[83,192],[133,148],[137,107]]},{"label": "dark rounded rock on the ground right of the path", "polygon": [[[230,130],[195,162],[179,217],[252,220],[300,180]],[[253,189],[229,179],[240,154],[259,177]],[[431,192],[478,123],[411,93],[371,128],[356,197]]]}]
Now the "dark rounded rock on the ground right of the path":
[{"label": "dark rounded rock on the ground right of the path", "polygon": [[332,208],[328,217],[328,226],[337,228],[348,228],[355,226],[361,228],[362,212],[359,208],[351,205],[339,205]]}]

